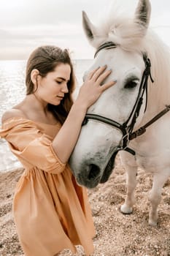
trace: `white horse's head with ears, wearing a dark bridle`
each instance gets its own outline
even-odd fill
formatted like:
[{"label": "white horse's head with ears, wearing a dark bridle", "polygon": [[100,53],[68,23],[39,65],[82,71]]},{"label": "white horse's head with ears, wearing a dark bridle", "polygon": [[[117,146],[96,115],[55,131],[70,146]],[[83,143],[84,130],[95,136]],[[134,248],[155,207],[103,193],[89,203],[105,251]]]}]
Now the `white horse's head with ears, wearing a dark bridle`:
[{"label": "white horse's head with ears, wearing a dark bridle", "polygon": [[[96,48],[92,67],[107,64],[112,69],[108,80],[117,80],[98,101],[88,109],[86,124],[74,148],[70,165],[77,182],[85,187],[96,187],[107,181],[114,167],[117,150],[128,143],[125,132],[136,115],[136,101],[143,94],[143,104],[132,128],[141,123],[146,107],[144,86],[144,52],[142,40],[150,20],[149,1],[139,1],[133,19],[113,18],[112,23],[97,28],[82,14],[83,26],[90,44]],[[102,85],[101,85],[102,86]],[[133,112],[134,111],[134,112]],[[91,115],[93,114],[93,115]],[[99,117],[98,117],[99,116]],[[108,118],[108,119],[103,119]],[[107,121],[106,121],[107,120]],[[111,121],[110,121],[111,120]],[[125,140],[124,140],[124,138]]]}]

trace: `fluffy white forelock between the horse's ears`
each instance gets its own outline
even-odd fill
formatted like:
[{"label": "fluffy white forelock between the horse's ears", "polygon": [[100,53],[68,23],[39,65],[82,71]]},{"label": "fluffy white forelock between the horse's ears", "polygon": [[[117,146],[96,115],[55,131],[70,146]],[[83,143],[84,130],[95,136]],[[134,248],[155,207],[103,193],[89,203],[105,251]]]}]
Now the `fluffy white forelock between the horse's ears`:
[{"label": "fluffy white forelock between the horse's ears", "polygon": [[139,50],[139,48],[142,48],[144,37],[142,21],[134,16],[129,17],[123,11],[116,10],[111,13],[107,15],[107,18],[101,18],[98,22],[95,40],[92,45],[98,48],[101,43],[112,41],[125,50]]}]

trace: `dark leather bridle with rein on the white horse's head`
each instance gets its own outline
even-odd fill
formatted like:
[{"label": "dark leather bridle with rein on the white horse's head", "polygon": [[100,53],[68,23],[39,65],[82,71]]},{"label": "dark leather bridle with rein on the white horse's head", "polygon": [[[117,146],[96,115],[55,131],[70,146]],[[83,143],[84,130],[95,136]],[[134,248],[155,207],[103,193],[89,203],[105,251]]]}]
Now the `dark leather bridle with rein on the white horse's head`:
[{"label": "dark leather bridle with rein on the white horse's head", "polygon": [[[96,57],[97,53],[100,50],[116,48],[116,47],[117,47],[117,45],[114,42],[105,42],[104,44],[100,45],[100,47],[96,50],[94,58]],[[125,150],[133,155],[135,155],[135,151],[131,148],[128,148],[129,141],[134,140],[134,138],[136,138],[136,137],[142,135],[144,132],[146,132],[146,128],[148,126],[150,126],[150,124],[152,124],[153,122],[158,120],[158,118],[161,118],[161,116],[163,116],[165,113],[167,113],[170,110],[170,105],[167,105],[165,109],[163,109],[160,113],[158,113],[158,115],[156,115],[149,122],[147,122],[147,124],[144,124],[144,126],[140,127],[135,132],[133,131],[134,125],[136,124],[136,119],[138,118],[141,107],[142,107],[144,92],[146,93],[146,96],[147,96],[147,81],[148,81],[149,77],[153,83],[152,76],[150,73],[150,67],[151,67],[150,59],[147,58],[147,53],[142,53],[142,55],[143,55],[143,59],[144,59],[145,69],[144,69],[144,72],[142,75],[142,80],[141,80],[141,83],[139,86],[139,92],[138,92],[138,96],[136,98],[136,102],[134,104],[134,108],[131,110],[131,114],[128,116],[127,121],[125,121],[123,124],[120,124],[117,121],[112,120],[110,118],[100,116],[97,114],[93,114],[93,113],[87,113],[85,115],[84,121],[82,122],[82,125],[85,125],[88,123],[89,119],[92,119],[92,120],[100,121],[104,124],[109,124],[112,127],[119,129],[120,132],[122,132],[122,134],[123,134],[123,138],[120,141],[120,145],[117,146],[116,151],[118,152],[120,150]],[[146,97],[146,105],[145,105],[144,111],[146,110],[146,108],[147,108],[147,97]]]}]

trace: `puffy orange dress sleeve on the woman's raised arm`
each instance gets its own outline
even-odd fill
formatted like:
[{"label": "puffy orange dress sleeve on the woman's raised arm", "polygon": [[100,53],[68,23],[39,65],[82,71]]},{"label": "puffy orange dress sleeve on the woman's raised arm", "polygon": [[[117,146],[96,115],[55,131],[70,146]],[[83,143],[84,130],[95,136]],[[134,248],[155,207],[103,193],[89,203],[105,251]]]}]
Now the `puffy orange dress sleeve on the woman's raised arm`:
[{"label": "puffy orange dress sleeve on the woman's raised arm", "polygon": [[0,138],[7,140],[15,156],[41,170],[61,173],[66,167],[55,154],[52,140],[32,121],[17,118],[5,122],[0,130]]}]

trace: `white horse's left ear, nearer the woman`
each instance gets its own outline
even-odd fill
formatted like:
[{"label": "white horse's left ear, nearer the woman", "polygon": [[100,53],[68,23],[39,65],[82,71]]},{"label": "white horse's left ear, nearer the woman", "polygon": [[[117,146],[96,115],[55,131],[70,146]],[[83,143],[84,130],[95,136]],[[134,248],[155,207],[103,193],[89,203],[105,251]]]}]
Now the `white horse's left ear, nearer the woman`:
[{"label": "white horse's left ear, nearer the woman", "polygon": [[93,41],[94,36],[95,36],[95,32],[96,32],[96,28],[95,26],[93,26],[93,24],[90,22],[88,15],[82,11],[82,26],[83,29],[85,30],[85,35],[86,37],[88,37],[88,40],[90,42]]}]

